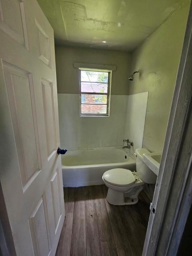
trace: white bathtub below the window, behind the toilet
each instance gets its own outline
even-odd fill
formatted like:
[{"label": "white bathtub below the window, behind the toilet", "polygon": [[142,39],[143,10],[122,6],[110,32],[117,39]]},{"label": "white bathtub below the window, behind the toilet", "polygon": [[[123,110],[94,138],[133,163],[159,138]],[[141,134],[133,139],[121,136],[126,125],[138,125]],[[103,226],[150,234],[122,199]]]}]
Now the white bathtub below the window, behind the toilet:
[{"label": "white bathtub below the window, behind the toilet", "polygon": [[135,170],[135,160],[119,148],[68,151],[62,155],[63,186],[104,184],[104,172],[113,168]]}]

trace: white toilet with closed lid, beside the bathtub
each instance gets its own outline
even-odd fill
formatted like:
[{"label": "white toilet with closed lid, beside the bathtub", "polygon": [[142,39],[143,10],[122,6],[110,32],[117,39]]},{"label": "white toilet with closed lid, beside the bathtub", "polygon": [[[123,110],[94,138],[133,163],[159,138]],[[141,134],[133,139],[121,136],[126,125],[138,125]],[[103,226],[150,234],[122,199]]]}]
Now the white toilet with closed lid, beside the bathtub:
[{"label": "white toilet with closed lid, beside the bathtub", "polygon": [[157,176],[143,162],[143,154],[149,153],[146,148],[137,148],[136,171],[115,168],[104,172],[103,181],[108,187],[107,201],[113,205],[129,205],[138,202],[138,195],[144,184],[155,184]]}]

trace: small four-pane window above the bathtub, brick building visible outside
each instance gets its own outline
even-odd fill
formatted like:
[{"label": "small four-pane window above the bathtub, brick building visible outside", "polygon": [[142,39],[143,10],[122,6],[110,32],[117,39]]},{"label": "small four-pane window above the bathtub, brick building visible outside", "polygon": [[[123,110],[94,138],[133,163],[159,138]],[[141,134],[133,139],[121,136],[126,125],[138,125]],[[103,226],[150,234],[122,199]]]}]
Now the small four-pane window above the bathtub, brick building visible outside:
[{"label": "small four-pane window above the bathtub, brick building visible outside", "polygon": [[108,116],[111,71],[80,69],[79,72],[80,115]]}]

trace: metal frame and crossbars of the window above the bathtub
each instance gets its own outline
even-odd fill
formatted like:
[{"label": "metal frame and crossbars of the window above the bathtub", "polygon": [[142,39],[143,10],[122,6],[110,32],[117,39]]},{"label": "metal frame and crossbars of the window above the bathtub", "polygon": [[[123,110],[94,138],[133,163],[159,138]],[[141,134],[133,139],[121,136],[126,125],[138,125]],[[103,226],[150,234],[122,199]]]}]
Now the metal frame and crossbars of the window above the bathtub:
[{"label": "metal frame and crossbars of the window above the bathtub", "polygon": [[[108,73],[108,88],[107,93],[103,92],[81,92],[81,71],[93,71],[93,72],[107,72]],[[79,68],[79,98],[80,98],[80,116],[100,116],[100,117],[108,117],[110,114],[110,91],[111,91],[111,78],[112,78],[112,70],[104,70],[104,69],[95,69],[95,68]],[[81,104],[85,104],[81,102],[81,95],[106,95],[107,103],[106,104],[93,104],[93,105],[107,105],[106,114],[92,114],[92,113],[82,113],[81,112]],[[90,105],[90,104],[88,104]]]}]

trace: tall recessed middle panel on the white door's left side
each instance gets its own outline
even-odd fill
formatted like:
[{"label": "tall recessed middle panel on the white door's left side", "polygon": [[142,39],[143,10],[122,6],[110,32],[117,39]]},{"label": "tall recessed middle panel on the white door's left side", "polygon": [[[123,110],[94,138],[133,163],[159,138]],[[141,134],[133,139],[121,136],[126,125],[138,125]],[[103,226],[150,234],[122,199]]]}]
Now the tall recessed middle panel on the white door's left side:
[{"label": "tall recessed middle panel on the white door's left side", "polygon": [[[41,170],[40,148],[32,76],[3,65],[23,186]],[[31,122],[33,125],[31,126]],[[28,127],[28,129],[26,129]],[[30,140],[30,143],[28,141]]]}]

